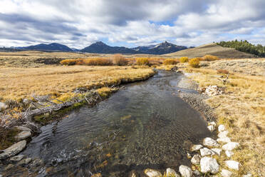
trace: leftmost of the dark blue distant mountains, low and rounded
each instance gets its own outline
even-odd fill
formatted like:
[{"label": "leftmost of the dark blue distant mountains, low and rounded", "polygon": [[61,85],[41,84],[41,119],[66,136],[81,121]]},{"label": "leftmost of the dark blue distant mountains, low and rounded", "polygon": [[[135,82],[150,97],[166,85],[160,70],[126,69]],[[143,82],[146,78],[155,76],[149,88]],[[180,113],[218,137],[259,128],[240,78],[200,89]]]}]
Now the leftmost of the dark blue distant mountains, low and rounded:
[{"label": "leftmost of the dark blue distant mountains, low and rounded", "polygon": [[35,46],[18,47],[17,49],[33,50],[33,51],[73,51],[66,45],[51,43],[51,44],[38,44]]}]

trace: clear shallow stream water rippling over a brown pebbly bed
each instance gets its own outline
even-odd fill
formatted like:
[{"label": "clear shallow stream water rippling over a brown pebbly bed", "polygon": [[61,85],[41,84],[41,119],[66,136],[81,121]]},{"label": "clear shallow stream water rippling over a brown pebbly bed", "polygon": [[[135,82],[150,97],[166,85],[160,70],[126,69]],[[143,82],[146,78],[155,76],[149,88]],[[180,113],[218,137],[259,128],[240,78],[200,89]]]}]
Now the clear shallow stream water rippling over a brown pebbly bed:
[{"label": "clear shallow stream water rippling over a brown pebbly bed", "polygon": [[190,165],[187,148],[210,136],[206,122],[177,96],[180,74],[159,71],[128,84],[98,106],[43,126],[22,153],[41,158],[39,176],[128,176],[145,168]]}]

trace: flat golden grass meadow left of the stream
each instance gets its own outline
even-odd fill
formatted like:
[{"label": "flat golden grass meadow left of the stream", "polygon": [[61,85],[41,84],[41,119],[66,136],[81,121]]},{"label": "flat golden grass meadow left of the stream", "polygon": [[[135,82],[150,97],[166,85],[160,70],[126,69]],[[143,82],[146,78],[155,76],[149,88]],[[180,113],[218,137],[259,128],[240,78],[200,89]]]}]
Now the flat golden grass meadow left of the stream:
[{"label": "flat golden grass meadow left of the stream", "polygon": [[147,79],[150,68],[126,66],[48,66],[19,69],[0,68],[2,99],[19,100],[35,95],[62,96],[77,88],[92,88],[120,84],[123,81]]}]

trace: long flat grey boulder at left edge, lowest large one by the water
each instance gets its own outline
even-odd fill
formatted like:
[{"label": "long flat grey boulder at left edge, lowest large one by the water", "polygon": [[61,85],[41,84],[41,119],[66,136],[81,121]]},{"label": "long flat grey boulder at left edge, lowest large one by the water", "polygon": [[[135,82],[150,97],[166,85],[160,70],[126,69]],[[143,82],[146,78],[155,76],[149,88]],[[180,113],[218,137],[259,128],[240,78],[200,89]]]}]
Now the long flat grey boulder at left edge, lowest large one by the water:
[{"label": "long flat grey boulder at left edge, lowest large one by the water", "polygon": [[9,148],[3,150],[3,153],[0,153],[0,160],[15,156],[16,154],[20,153],[25,147],[26,147],[26,140],[14,143]]}]

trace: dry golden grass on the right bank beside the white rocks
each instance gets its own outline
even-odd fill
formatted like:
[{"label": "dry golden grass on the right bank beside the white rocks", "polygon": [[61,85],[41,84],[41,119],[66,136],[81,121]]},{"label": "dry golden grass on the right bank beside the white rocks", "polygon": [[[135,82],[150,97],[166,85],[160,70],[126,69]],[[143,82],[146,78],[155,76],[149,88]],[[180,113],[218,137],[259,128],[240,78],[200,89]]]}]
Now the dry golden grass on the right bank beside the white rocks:
[{"label": "dry golden grass on the right bank beside the white rocks", "polygon": [[[235,151],[233,160],[242,164],[239,175],[251,171],[254,176],[265,174],[265,78],[246,74],[232,74],[224,85],[212,69],[187,69],[199,74],[192,79],[200,87],[225,86],[226,94],[207,99],[218,116],[218,123],[229,128],[232,141],[241,147]],[[230,72],[230,71],[229,71]],[[226,75],[224,75],[226,76]],[[225,155],[224,155],[225,156]]]}]

